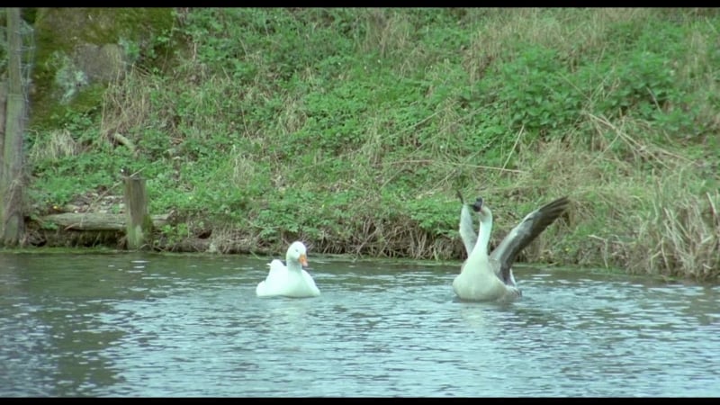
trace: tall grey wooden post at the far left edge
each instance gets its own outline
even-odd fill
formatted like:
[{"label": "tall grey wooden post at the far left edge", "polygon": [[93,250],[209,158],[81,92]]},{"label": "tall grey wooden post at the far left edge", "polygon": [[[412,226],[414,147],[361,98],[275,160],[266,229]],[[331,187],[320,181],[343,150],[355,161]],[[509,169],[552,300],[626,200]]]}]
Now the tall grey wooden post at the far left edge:
[{"label": "tall grey wooden post at the far left edge", "polygon": [[0,230],[6,246],[20,243],[25,232],[23,218],[23,119],[25,97],[21,75],[23,40],[20,38],[20,9],[8,7],[7,18],[7,100],[4,110],[4,140],[0,161]]}]

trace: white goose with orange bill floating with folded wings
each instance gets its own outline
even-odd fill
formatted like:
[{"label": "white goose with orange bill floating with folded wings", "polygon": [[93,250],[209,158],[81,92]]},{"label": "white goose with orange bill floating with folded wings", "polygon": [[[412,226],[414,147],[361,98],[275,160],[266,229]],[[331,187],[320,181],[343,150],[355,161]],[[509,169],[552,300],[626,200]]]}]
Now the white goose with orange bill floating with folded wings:
[{"label": "white goose with orange bill floating with folded wings", "polygon": [[301,241],[295,241],[287,249],[285,262],[275,259],[267,266],[270,272],[264,281],[257,284],[255,293],[258,297],[317,297],[320,290],[311,275],[302,269],[308,266],[308,249]]}]

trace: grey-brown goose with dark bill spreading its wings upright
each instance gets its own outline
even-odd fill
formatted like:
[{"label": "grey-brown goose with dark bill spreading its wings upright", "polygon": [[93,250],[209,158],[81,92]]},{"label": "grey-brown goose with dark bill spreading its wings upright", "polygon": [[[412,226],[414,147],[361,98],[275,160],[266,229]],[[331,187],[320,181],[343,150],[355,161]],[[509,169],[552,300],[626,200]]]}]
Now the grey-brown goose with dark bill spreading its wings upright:
[{"label": "grey-brown goose with dark bill spreading its wings upright", "polygon": [[[461,266],[460,274],[453,280],[455,294],[466,301],[517,300],[522,296],[522,292],[512,275],[513,262],[523,248],[563,214],[570,200],[561,197],[527,214],[489,256],[488,244],[492,231],[490,208],[483,203],[482,197],[478,197],[471,206],[463,201],[459,192],[457,195],[463,203],[460,211],[460,238],[463,239],[468,257]],[[470,208],[480,216],[477,236],[473,231]]]}]

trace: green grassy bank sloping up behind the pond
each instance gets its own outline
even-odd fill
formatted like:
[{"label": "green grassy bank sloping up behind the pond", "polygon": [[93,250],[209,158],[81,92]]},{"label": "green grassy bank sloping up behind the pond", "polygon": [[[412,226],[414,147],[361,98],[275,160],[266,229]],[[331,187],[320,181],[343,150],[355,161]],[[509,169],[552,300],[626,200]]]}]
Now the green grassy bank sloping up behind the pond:
[{"label": "green grassy bank sloping up behind the pond", "polygon": [[455,190],[495,241],[568,195],[527,259],[716,280],[719,39],[704,9],[183,10],[175,54],[31,129],[31,211],[127,166],[166,238],[460,258]]}]

